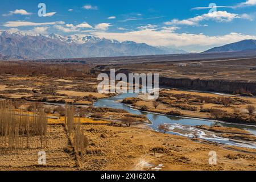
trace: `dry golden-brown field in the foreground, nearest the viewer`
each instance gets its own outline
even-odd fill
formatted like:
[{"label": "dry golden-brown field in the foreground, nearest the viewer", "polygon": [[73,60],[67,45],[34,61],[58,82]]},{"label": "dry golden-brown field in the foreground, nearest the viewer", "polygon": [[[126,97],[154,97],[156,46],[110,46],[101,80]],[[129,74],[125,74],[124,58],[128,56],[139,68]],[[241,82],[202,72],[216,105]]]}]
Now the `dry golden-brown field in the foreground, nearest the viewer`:
[{"label": "dry golden-brown field in the foreground, nearest the viewer", "polygon": [[[1,152],[0,169],[254,170],[256,167],[255,150],[218,146],[135,127],[82,125],[82,128],[89,139],[84,160],[69,152],[71,144],[64,127],[49,125],[47,148]],[[42,150],[46,151],[46,166],[38,165],[38,152]],[[217,165],[208,164],[209,151],[217,152]]]}]

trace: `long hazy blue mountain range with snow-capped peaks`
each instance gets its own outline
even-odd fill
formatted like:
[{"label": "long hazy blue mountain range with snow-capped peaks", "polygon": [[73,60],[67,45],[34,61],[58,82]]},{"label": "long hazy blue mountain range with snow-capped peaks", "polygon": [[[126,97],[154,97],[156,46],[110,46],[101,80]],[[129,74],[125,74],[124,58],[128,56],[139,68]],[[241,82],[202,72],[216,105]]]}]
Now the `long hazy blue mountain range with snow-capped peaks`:
[{"label": "long hazy blue mountain range with snow-capped peaks", "polygon": [[188,53],[132,41],[118,42],[97,36],[41,35],[0,31],[0,59],[64,59]]}]

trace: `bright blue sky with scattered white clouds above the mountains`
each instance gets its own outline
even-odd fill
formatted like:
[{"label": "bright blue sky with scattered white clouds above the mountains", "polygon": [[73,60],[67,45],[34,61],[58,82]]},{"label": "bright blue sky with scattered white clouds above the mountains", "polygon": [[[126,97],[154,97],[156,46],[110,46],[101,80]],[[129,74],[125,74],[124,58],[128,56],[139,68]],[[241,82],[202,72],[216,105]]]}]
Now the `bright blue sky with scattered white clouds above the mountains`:
[{"label": "bright blue sky with scattered white clouds above the mountains", "polygon": [[[39,3],[46,5],[41,17]],[[199,52],[256,39],[255,10],[256,0],[4,0],[0,30],[94,35]]]}]

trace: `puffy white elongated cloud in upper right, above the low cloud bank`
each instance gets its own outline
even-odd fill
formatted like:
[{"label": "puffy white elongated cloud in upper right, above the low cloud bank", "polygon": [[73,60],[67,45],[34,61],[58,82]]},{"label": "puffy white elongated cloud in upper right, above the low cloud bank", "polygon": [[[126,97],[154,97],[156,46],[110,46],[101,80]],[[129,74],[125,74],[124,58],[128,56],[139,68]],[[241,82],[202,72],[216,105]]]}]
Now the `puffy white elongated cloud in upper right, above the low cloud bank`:
[{"label": "puffy white elongated cloud in upper right, above the low cloud bank", "polygon": [[231,22],[233,19],[251,19],[247,14],[234,14],[227,11],[214,11],[213,13],[207,13],[188,19],[172,19],[170,22],[165,22],[167,25],[186,25],[186,26],[199,26],[199,23],[204,20],[214,20],[216,22]]}]

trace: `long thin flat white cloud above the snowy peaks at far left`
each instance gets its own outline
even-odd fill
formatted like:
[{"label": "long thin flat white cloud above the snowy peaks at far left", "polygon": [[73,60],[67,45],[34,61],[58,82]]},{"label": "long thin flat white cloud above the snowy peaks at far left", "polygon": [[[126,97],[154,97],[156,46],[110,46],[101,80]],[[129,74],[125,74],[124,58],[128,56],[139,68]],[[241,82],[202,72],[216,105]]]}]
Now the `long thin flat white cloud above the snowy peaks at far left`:
[{"label": "long thin flat white cloud above the snowy peaks at far left", "polygon": [[3,23],[5,27],[24,27],[24,26],[42,26],[42,25],[55,25],[55,24],[64,24],[63,21],[57,22],[44,22],[44,23],[35,23],[35,22],[26,22],[26,21],[9,21]]}]

